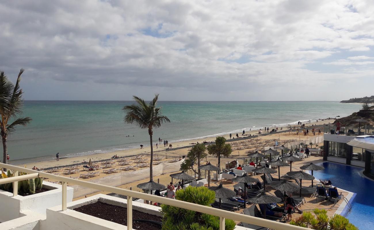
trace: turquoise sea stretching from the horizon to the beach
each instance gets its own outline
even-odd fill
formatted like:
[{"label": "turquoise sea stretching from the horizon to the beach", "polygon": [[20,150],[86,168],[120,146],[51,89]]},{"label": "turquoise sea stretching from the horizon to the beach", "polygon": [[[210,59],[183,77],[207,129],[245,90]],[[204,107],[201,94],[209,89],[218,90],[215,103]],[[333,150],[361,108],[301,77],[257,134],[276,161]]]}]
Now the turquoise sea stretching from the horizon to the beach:
[{"label": "turquoise sea stretching from the horizon to the beach", "polygon": [[[33,119],[10,135],[13,164],[149,146],[147,130],[123,122],[132,101],[25,101],[22,116]],[[335,101],[160,101],[171,123],[154,129],[169,142],[347,116],[359,104]],[[130,135],[130,137],[126,137]]]}]

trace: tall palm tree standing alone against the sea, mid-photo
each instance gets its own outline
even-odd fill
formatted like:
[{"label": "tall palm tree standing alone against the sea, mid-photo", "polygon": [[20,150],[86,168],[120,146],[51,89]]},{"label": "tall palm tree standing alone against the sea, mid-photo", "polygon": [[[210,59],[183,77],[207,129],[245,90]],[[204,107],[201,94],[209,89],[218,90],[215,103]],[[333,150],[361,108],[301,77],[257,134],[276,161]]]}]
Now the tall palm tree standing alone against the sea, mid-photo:
[{"label": "tall palm tree standing alone against the sea, mid-photo", "polygon": [[149,179],[153,181],[153,128],[159,128],[163,123],[170,122],[169,118],[162,116],[161,108],[157,108],[157,100],[159,95],[156,94],[152,101],[147,104],[144,99],[133,96],[136,102],[135,105],[125,105],[122,110],[126,111],[124,122],[129,124],[136,124],[141,129],[148,129],[148,134],[151,143],[151,161],[149,166]]}]

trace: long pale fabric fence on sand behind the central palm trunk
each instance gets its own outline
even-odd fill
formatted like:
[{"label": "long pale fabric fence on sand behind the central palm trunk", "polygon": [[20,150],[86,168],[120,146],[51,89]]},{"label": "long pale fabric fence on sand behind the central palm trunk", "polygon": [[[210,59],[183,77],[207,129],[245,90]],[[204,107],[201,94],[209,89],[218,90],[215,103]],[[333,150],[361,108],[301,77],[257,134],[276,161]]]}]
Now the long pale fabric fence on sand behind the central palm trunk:
[{"label": "long pale fabric fence on sand behind the central palm trunk", "polygon": [[[184,162],[184,159],[178,162],[174,162],[174,163],[163,162],[163,163],[160,163],[159,165],[154,165],[153,176],[180,171],[181,163],[183,162]],[[118,187],[120,185],[124,185],[124,184],[128,184],[128,183],[132,183],[135,181],[140,181],[140,180],[149,178],[149,172],[150,172],[149,168],[140,169],[136,171],[121,171],[119,173],[110,174],[102,178],[90,180],[90,182],[96,183],[96,184],[108,185],[111,187]],[[73,198],[85,196],[85,195],[100,191],[94,188],[84,187],[80,185],[71,185],[70,187],[74,188]]]}]

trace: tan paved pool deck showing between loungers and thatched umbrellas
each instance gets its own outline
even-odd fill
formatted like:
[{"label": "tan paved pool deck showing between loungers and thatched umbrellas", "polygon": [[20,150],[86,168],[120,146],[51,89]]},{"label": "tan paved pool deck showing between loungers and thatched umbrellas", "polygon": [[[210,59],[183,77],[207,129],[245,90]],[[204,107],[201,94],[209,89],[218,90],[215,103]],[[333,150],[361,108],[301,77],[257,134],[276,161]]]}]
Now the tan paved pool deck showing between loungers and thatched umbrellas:
[{"label": "tan paved pool deck showing between loungers and thatched umbrellas", "polygon": [[[300,166],[303,166],[305,165],[307,162],[313,162],[314,164],[316,163],[321,163],[323,162],[322,160],[322,157],[321,156],[311,156],[311,157],[308,157],[308,158],[305,158],[304,161],[300,161],[300,162],[293,162],[292,163],[292,171],[300,171]],[[278,171],[278,167],[276,169]],[[286,166],[286,167],[281,167],[280,168],[280,173],[281,173],[281,176],[282,175],[285,175],[287,172],[289,172],[289,166]],[[305,171],[307,172],[307,171]],[[277,174],[272,174],[273,177],[275,177],[275,175],[277,175],[278,177],[278,173]],[[255,178],[258,178],[261,182],[263,181],[261,178],[260,178],[261,175],[255,175],[254,177]],[[327,179],[327,178],[323,178],[323,179]],[[295,183],[294,180],[290,180],[291,182]],[[318,180],[314,180],[314,184],[318,183],[319,181]],[[221,180],[221,181],[212,181],[211,182],[211,186],[218,186],[220,183],[223,184],[224,187],[227,187],[231,190],[233,190],[233,186],[235,184],[237,184],[236,182],[233,182],[231,180]],[[295,183],[296,184],[296,183]],[[303,180],[303,186],[309,186],[311,185],[312,182],[311,181],[304,181]],[[334,181],[332,181],[332,185],[334,185]],[[270,186],[267,186],[267,190],[268,193],[274,195],[274,189],[273,188],[270,188]],[[348,200],[350,200],[352,197],[354,197],[354,193],[352,192],[349,192],[349,191],[346,191],[346,190],[342,190],[340,188],[338,188],[338,191],[339,193],[342,193],[344,195],[344,197],[346,197]],[[293,193],[293,196],[294,197],[299,197],[299,192],[294,192]],[[324,200],[322,199],[321,197],[319,197],[317,200],[316,200],[316,197],[312,197],[311,194],[302,194],[302,197],[305,198],[305,201],[303,205],[301,205],[301,207],[299,207],[299,209],[301,211],[312,211],[313,209],[315,208],[318,208],[318,209],[326,209],[327,210],[327,215],[328,216],[333,216],[335,213],[337,214],[345,214],[347,212],[347,208],[346,208],[346,202],[344,202],[343,200],[339,200],[337,202],[337,204],[333,207],[334,203],[329,201],[329,200]],[[236,212],[242,212],[243,209],[240,209],[239,211],[236,211]],[[300,214],[298,213],[293,213],[292,214],[292,218],[297,218]]]}]

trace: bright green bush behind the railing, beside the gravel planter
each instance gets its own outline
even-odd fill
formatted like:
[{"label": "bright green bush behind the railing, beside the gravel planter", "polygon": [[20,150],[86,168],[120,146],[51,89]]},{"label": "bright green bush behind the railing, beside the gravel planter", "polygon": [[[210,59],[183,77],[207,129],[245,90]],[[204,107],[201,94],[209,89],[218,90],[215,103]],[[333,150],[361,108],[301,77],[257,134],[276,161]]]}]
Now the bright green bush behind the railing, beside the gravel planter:
[{"label": "bright green bush behind the railing, beside the gravel planter", "polygon": [[[215,192],[207,187],[188,186],[175,193],[175,199],[204,206],[215,202]],[[219,217],[170,205],[161,205],[162,230],[219,230]],[[225,221],[225,229],[235,229],[233,220]]]}]

